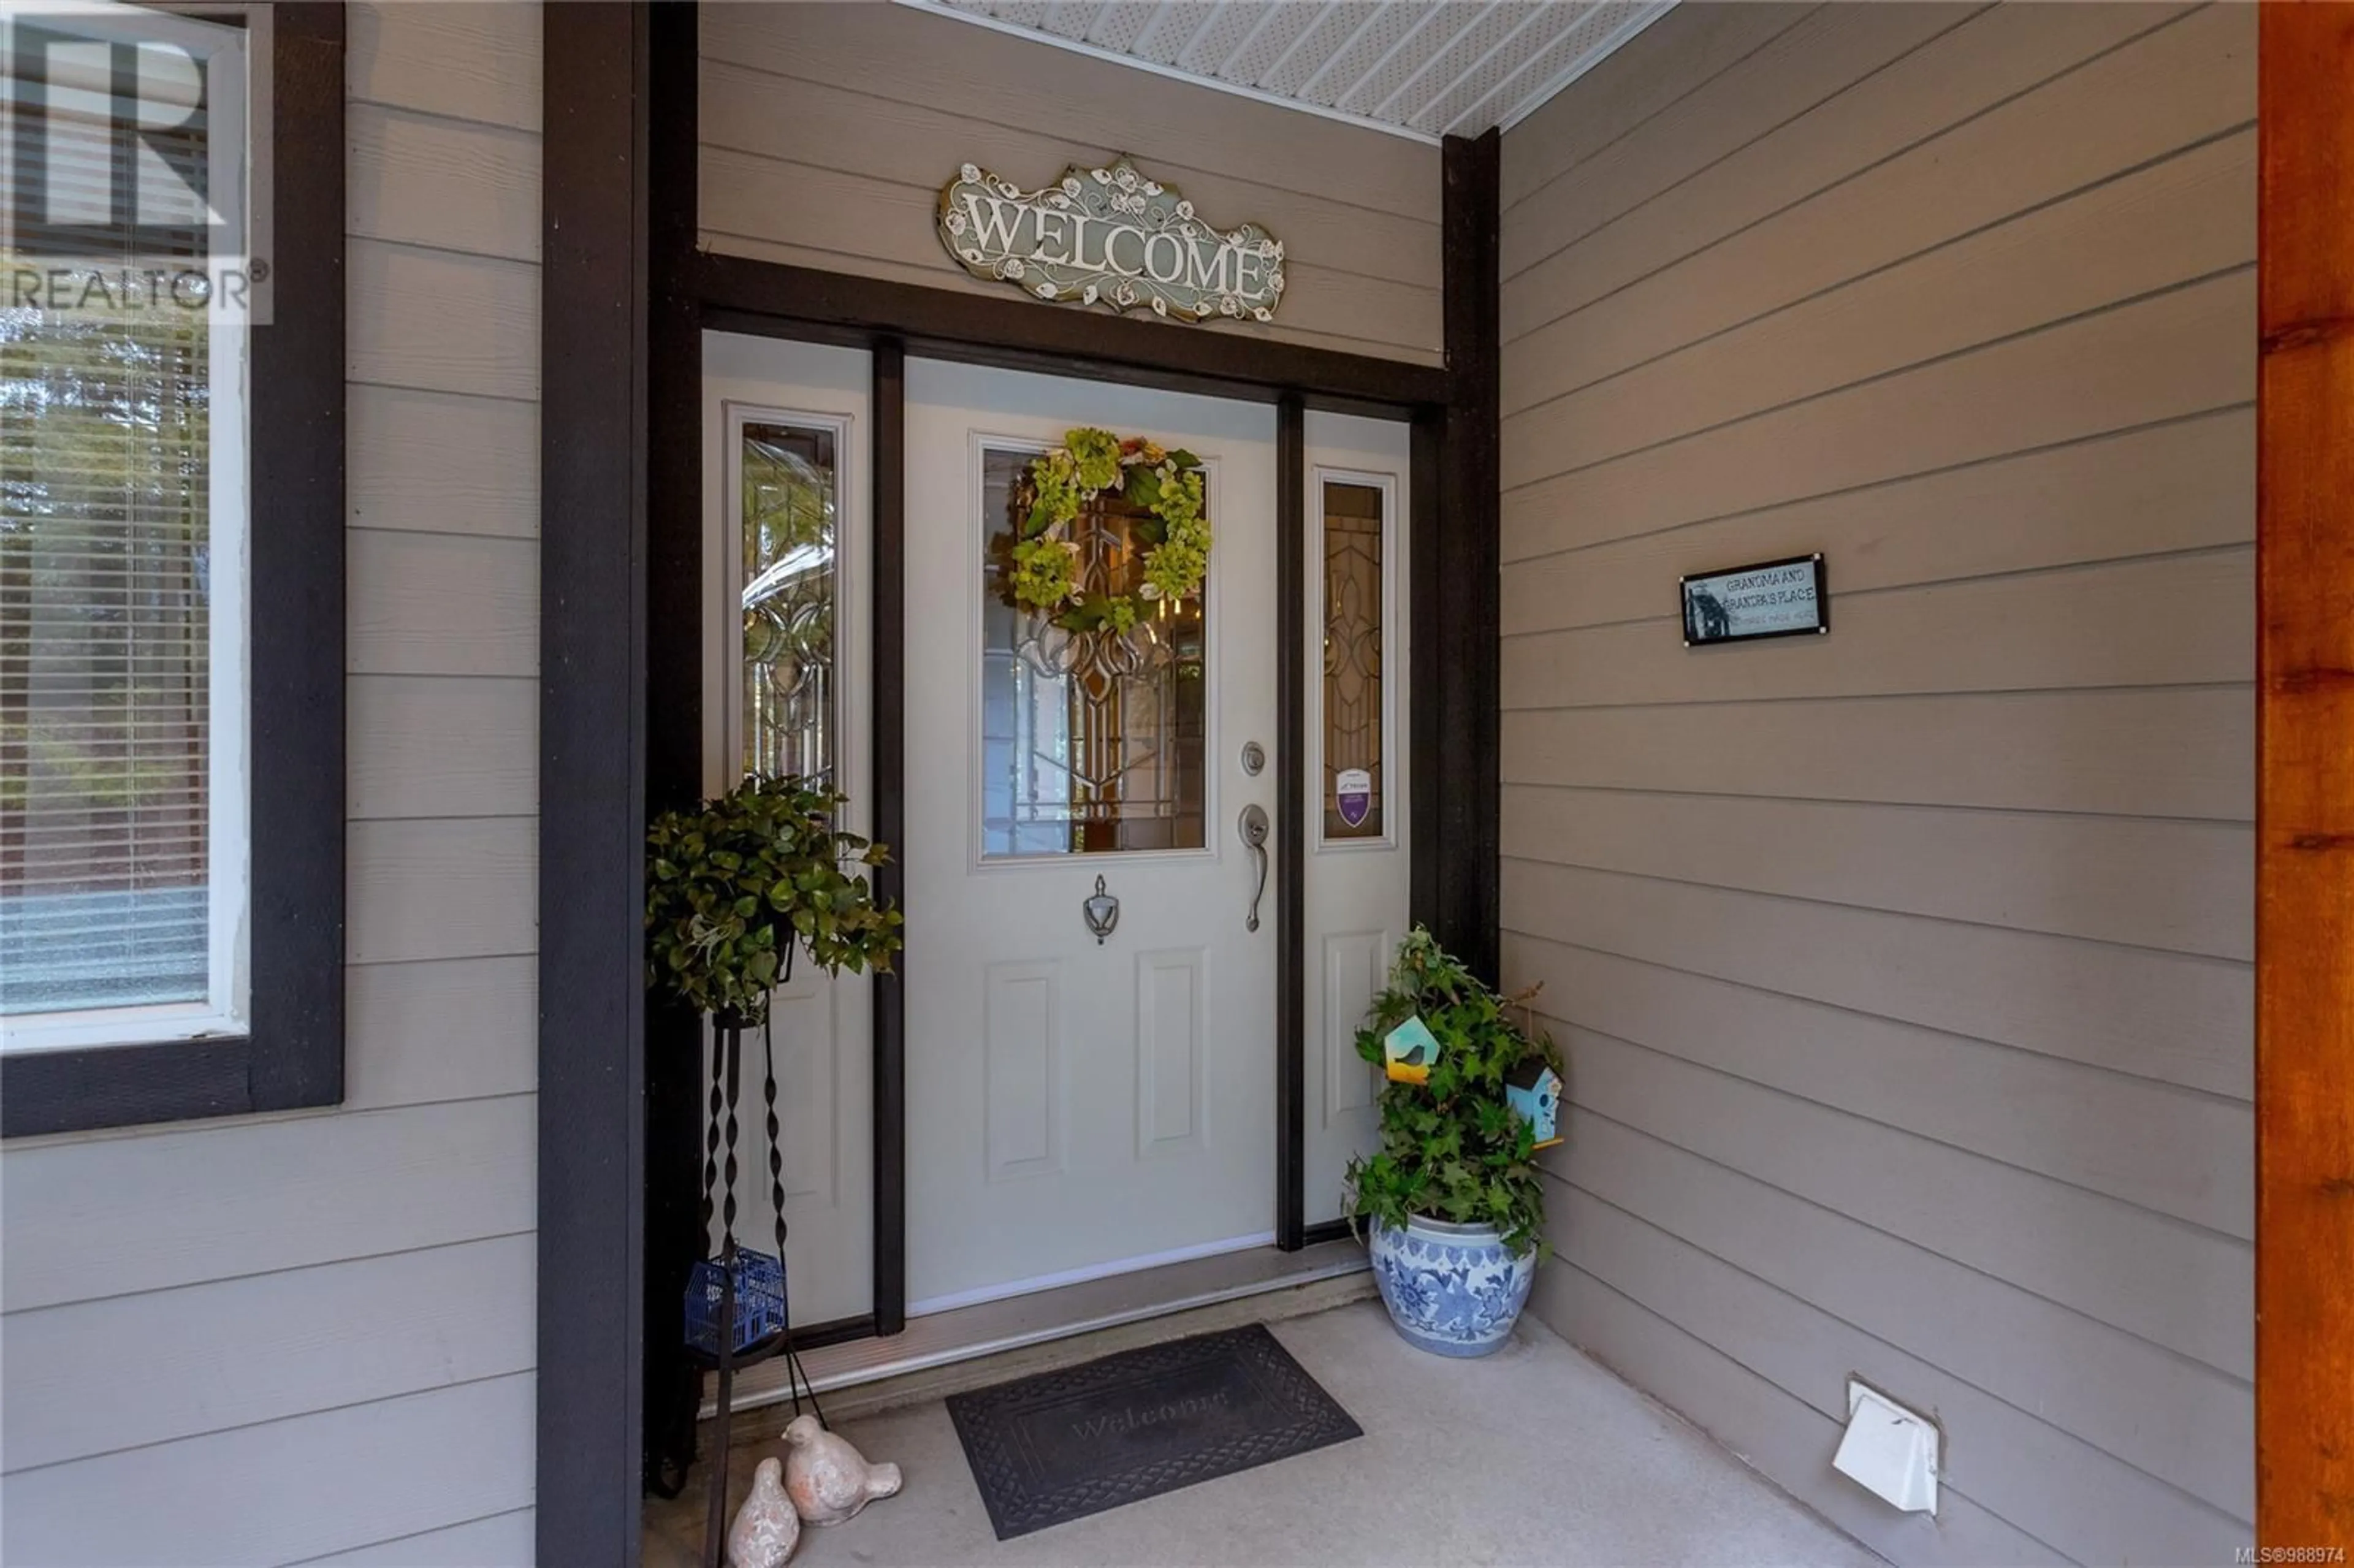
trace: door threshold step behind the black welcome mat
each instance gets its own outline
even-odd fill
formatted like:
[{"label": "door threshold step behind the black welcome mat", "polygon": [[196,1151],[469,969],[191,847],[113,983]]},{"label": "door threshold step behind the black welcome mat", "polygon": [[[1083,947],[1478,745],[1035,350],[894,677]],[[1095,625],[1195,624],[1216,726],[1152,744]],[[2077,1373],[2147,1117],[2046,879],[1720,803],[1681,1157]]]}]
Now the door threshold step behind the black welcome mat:
[{"label": "door threshold step behind the black welcome mat", "polygon": [[[819,1394],[831,1394],[836,1389],[899,1380],[911,1373],[946,1368],[960,1361],[1000,1356],[1033,1344],[1095,1335],[1125,1323],[1191,1314],[1205,1307],[1243,1302],[1278,1290],[1299,1290],[1323,1281],[1349,1281],[1356,1290],[1344,1290],[1339,1295],[1330,1290],[1304,1293],[1299,1311],[1323,1311],[1344,1297],[1370,1293],[1372,1285],[1365,1264],[1365,1248],[1349,1236],[1342,1236],[1337,1241],[1321,1241],[1297,1253],[1243,1248],[1241,1253],[1219,1253],[1215,1257],[1189,1257],[1184,1262],[1137,1269],[1132,1274],[1111,1274],[1104,1278],[1080,1281],[1076,1285],[1059,1285],[1055,1290],[1010,1295],[993,1302],[977,1302],[972,1307],[953,1307],[949,1311],[909,1318],[906,1333],[890,1335],[887,1340],[873,1337],[826,1344],[822,1349],[805,1351],[800,1356],[800,1366],[807,1370],[810,1382]],[[1269,1316],[1295,1314],[1278,1311]],[[1186,1330],[1191,1328],[1193,1326],[1186,1326]],[[1217,1328],[1217,1323],[1203,1323],[1201,1328]],[[1099,1354],[1102,1349],[1116,1347],[1088,1347],[1092,1354]],[[927,1380],[925,1389],[911,1391],[909,1398],[937,1398],[942,1391],[944,1389],[937,1380]],[[744,1410],[779,1403],[789,1396],[791,1391],[786,1389],[786,1368],[782,1358],[765,1361],[749,1373],[737,1375],[734,1408],[739,1415]],[[880,1408],[883,1403],[897,1401],[859,1401],[862,1408]],[[718,1408],[711,1401],[711,1382],[706,1382],[701,1415],[709,1420],[716,1413]]]}]

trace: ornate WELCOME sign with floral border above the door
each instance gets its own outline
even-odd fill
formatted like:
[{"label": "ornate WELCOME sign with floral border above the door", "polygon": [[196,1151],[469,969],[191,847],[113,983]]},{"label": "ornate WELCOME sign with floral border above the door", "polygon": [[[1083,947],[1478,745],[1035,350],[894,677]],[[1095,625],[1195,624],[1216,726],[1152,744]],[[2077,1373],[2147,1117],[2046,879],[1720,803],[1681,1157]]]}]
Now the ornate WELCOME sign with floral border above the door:
[{"label": "ornate WELCOME sign with floral border above the door", "polygon": [[939,242],[975,278],[1033,299],[1172,320],[1274,320],[1283,304],[1283,240],[1257,224],[1212,228],[1125,158],[1071,165],[1038,191],[967,162],[939,193]]}]

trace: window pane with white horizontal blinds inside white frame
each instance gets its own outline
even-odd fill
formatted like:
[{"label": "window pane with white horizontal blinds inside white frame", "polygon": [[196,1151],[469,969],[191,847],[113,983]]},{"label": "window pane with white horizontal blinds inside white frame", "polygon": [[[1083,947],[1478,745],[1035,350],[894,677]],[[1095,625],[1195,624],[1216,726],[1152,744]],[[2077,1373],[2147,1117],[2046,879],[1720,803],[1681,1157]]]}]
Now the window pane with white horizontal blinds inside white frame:
[{"label": "window pane with white horizontal blinds inside white frame", "polygon": [[9,54],[9,264],[45,287],[0,308],[5,1015],[198,1003],[214,982],[214,330],[158,297],[207,259],[188,179],[207,113],[169,101],[184,54],[132,59],[111,40]]}]

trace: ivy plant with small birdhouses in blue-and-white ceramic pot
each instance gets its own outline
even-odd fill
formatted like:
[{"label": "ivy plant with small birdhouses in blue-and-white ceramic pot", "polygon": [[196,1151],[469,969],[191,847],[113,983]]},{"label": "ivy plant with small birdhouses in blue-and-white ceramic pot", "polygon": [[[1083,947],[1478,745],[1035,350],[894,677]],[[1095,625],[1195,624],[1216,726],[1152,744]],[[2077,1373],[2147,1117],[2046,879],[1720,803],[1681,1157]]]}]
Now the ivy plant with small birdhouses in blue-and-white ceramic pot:
[{"label": "ivy plant with small birdhouses in blue-and-white ceramic pot", "polygon": [[1356,1034],[1389,1081],[1379,1151],[1349,1161],[1349,1222],[1391,1323],[1441,1356],[1499,1349],[1547,1253],[1537,1149],[1558,1142],[1561,1052],[1514,1019],[1525,1003],[1417,925]]}]

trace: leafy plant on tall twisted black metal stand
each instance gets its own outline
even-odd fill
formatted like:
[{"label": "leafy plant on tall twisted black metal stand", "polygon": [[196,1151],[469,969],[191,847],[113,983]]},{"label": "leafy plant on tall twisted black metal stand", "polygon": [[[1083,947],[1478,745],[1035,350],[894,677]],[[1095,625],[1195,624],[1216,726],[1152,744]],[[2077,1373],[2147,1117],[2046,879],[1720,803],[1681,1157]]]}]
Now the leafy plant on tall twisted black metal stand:
[{"label": "leafy plant on tall twisted black metal stand", "polygon": [[[727,1429],[739,1366],[784,1354],[793,1408],[807,1377],[793,1356],[784,1285],[784,1161],[777,1151],[777,1057],[767,1038],[770,994],[793,977],[793,956],[838,975],[887,970],[902,916],[873,897],[869,866],[885,845],[843,833],[843,796],[819,777],[749,777],[694,810],[664,812],[645,833],[647,984],[711,1017],[711,1123],[704,1132],[704,1227],[725,1170],[718,1257],[687,1281],[687,1344],[718,1368],[718,1424],[704,1561],[725,1542]],[[760,1029],[767,1109],[767,1182],[777,1253],[734,1238],[737,1085],[744,1034]],[[725,1111],[725,1121],[723,1121]],[[720,1137],[725,1125],[725,1168]],[[814,1406],[814,1389],[810,1391]],[[819,1420],[824,1413],[819,1413]]]}]

